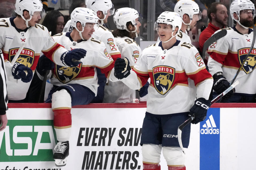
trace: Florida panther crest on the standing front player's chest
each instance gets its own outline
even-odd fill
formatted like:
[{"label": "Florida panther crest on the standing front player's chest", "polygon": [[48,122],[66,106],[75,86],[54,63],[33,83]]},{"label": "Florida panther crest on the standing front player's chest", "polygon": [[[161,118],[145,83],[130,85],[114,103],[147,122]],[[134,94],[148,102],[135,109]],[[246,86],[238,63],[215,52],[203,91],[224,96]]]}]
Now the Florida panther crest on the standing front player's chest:
[{"label": "Florida panther crest on the standing front player's chest", "polygon": [[173,84],[175,68],[169,66],[153,67],[153,78],[155,89],[161,95],[165,95]]}]

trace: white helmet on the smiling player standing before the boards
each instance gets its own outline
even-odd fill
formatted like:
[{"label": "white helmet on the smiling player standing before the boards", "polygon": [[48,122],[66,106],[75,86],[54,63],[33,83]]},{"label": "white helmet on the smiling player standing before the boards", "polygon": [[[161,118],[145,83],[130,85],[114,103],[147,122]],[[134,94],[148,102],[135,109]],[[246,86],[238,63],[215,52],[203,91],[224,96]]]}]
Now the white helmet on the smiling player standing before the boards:
[{"label": "white helmet on the smiling player standing before the boards", "polygon": [[[157,32],[158,32],[158,24],[160,24],[160,23],[169,24],[169,25],[172,26],[171,38],[167,41],[163,41],[164,43],[167,43],[173,37],[175,37],[177,35],[177,33],[179,32],[179,30],[181,29],[182,19],[181,19],[181,16],[177,12],[165,11],[165,12],[162,12],[162,14],[160,14],[157,17],[157,21],[155,22],[154,30],[156,30]],[[174,32],[176,27],[178,27],[178,31],[173,36],[173,32]]]}]

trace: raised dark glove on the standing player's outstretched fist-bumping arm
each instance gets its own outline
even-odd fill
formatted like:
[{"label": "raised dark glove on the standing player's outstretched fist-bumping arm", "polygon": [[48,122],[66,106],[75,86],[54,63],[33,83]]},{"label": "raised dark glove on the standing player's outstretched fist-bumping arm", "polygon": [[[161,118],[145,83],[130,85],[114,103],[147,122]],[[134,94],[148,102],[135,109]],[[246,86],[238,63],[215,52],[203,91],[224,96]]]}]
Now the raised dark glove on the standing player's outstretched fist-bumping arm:
[{"label": "raised dark glove on the standing player's outstretched fist-bumping arm", "polygon": [[130,67],[129,60],[125,57],[123,58],[117,58],[114,65],[114,75],[118,79],[126,78],[128,75],[130,75],[131,67]]}]

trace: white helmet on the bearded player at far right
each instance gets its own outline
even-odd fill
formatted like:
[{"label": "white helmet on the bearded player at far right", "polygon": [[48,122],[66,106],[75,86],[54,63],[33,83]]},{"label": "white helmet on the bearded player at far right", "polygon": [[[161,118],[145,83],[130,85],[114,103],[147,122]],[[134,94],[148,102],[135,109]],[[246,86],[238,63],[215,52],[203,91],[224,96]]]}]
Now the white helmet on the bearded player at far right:
[{"label": "white helmet on the bearded player at far right", "polygon": [[[243,28],[248,28],[243,26],[240,23],[240,11],[241,10],[252,10],[253,11],[253,18],[255,16],[255,6],[254,4],[249,0],[235,0],[230,5],[230,16],[233,20],[235,20],[239,25],[241,25]],[[238,20],[234,18],[234,13],[237,14]]]}]

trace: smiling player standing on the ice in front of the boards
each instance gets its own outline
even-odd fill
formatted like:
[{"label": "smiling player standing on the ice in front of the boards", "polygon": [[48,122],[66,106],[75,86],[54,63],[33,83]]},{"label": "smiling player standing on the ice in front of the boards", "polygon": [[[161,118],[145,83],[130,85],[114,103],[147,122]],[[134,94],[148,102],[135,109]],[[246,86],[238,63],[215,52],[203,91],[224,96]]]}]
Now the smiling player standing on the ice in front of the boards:
[{"label": "smiling player standing on the ice in front of the boards", "polygon": [[[164,16],[164,17],[163,17]],[[139,89],[150,77],[147,110],[142,125],[141,145],[143,169],[160,170],[160,155],[166,159],[168,170],[185,170],[185,158],[179,148],[178,126],[189,116],[195,115],[192,123],[203,121],[211,105],[208,100],[213,78],[197,49],[176,40],[181,28],[181,17],[176,12],[163,12],[157,19],[155,30],[161,41],[142,51],[132,71],[129,61],[115,61],[115,76],[132,89]],[[191,100],[188,78],[194,80],[196,100]],[[183,129],[182,143],[187,148],[190,124]]]}]

